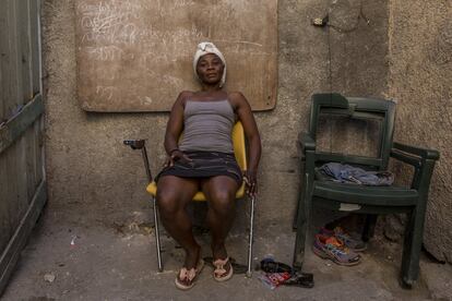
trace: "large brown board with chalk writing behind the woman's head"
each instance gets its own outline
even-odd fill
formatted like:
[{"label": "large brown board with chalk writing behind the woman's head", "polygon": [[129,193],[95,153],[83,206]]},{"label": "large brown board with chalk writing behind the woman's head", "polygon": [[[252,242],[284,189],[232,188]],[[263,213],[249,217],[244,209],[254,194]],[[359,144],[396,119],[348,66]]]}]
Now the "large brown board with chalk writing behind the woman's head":
[{"label": "large brown board with chalk writing behind the woman's head", "polygon": [[253,110],[276,103],[277,0],[78,0],[79,101],[87,111],[168,111],[199,89],[192,56],[213,41],[228,91]]}]

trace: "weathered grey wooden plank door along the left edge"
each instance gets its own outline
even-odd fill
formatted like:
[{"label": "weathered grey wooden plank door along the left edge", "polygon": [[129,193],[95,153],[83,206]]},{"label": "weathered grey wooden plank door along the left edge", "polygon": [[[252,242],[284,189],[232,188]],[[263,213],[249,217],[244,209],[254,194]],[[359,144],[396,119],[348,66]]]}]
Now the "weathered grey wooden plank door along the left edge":
[{"label": "weathered grey wooden plank door along the left edge", "polygon": [[0,296],[47,197],[44,117],[36,119],[40,103],[29,103],[40,86],[38,2],[0,8]]}]

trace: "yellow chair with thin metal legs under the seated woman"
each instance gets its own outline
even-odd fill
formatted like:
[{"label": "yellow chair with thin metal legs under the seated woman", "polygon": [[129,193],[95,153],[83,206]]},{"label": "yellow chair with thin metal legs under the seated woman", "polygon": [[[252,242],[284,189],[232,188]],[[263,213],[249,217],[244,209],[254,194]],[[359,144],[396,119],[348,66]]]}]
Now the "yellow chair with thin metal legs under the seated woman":
[{"label": "yellow chair with thin metal legs under the seated woman", "polygon": [[[162,253],[160,253],[160,241],[159,241],[159,227],[158,227],[158,209],[156,205],[155,196],[157,195],[157,183],[153,181],[151,170],[148,168],[147,153],[144,145],[144,141],[124,141],[124,144],[130,145],[133,149],[142,149],[142,155],[144,159],[144,165],[146,168],[146,173],[150,179],[150,184],[146,188],[146,191],[152,195],[152,202],[154,206],[154,225],[155,225],[155,240],[157,248],[157,261],[158,261],[158,270],[163,272],[162,263]],[[243,127],[240,121],[236,122],[233,128],[233,145],[234,154],[236,156],[237,162],[242,171],[247,170],[247,152],[245,143],[245,132]],[[245,182],[241,184],[237,191],[236,198],[242,198],[245,196]],[[252,243],[253,243],[253,224],[254,224],[254,202],[255,197],[251,198],[250,206],[250,231],[249,231],[249,241],[248,241],[248,270],[247,277],[251,277],[251,262],[252,262]],[[202,191],[197,192],[193,196],[195,202],[206,202],[206,197]]]}]

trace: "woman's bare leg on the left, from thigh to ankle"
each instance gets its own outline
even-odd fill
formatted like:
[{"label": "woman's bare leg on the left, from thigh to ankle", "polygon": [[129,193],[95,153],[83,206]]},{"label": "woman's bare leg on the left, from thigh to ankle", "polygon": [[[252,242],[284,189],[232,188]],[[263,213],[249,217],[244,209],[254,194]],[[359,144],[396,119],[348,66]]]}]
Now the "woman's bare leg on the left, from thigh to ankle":
[{"label": "woman's bare leg on the left, from thigh to ankle", "polygon": [[198,192],[199,180],[165,176],[157,183],[157,202],[162,222],[168,233],[186,251],[188,269],[195,267],[200,256],[200,245],[194,240],[192,224],[187,214],[187,205]]}]

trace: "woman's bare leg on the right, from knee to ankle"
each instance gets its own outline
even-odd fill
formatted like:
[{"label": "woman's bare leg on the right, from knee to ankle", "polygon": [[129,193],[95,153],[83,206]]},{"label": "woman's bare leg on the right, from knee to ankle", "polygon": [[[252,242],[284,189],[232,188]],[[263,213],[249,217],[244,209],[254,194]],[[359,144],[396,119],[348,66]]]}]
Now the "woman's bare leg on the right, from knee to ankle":
[{"label": "woman's bare leg on the right, from knee to ankle", "polygon": [[238,189],[237,182],[227,176],[212,177],[202,182],[202,190],[210,202],[206,220],[212,233],[214,260],[227,257],[225,240],[233,226]]}]

